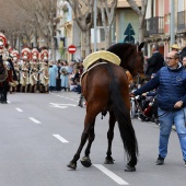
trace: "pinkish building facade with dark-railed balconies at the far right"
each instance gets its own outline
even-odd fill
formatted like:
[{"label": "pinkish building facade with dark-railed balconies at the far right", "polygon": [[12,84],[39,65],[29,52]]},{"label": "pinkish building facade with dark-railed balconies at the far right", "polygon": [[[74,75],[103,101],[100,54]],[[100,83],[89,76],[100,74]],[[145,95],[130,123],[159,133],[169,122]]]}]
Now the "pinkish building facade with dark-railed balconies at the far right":
[{"label": "pinkish building facade with dark-railed balconies at the far right", "polygon": [[160,51],[166,56],[172,39],[181,49],[186,46],[186,0],[148,0],[144,38],[147,55],[151,56],[152,45],[156,43]]}]

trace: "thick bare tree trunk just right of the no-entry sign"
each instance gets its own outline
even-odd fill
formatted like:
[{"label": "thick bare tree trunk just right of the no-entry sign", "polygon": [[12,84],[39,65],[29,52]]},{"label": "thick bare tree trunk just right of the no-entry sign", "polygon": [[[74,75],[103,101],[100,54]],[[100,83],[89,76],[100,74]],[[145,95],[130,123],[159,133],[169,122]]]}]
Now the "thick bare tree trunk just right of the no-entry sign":
[{"label": "thick bare tree trunk just right of the no-entry sign", "polygon": [[91,27],[93,25],[94,0],[67,0],[73,10],[75,21],[82,32],[81,56],[85,58],[91,53]]}]

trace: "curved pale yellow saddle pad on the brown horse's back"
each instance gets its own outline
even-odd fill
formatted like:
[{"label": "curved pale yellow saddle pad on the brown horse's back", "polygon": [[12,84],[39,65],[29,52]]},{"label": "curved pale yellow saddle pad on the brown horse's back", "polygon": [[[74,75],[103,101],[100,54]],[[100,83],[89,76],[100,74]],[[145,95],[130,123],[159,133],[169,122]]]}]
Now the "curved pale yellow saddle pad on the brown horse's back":
[{"label": "curved pale yellow saddle pad on the brown horse's back", "polygon": [[101,50],[101,51],[92,53],[83,60],[84,69],[88,70],[88,68],[98,59],[104,59],[117,66],[120,65],[120,58],[118,56],[106,50]]}]

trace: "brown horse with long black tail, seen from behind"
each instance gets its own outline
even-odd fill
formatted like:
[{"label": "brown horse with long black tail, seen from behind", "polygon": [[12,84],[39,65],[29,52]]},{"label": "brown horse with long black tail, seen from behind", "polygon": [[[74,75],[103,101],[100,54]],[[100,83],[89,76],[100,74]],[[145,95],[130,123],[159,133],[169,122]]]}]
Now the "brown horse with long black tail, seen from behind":
[{"label": "brown horse with long black tail, seen from behind", "polygon": [[[125,171],[136,171],[138,142],[130,119],[130,98],[128,89],[128,78],[125,69],[128,69],[133,77],[143,73],[143,55],[141,44],[138,48],[132,44],[116,44],[107,49],[120,58],[120,67],[108,62],[105,59],[95,61],[98,63],[91,68],[82,78],[82,93],[85,97],[86,115],[84,119],[84,130],[81,136],[81,142],[73,159],[67,165],[73,170],[77,168],[77,161],[86,142],[85,155],[81,163],[83,166],[91,166],[90,150],[94,140],[94,125],[96,116],[109,112],[109,129],[107,131],[108,149],[105,163],[113,164],[112,141],[114,138],[115,123],[118,123],[120,137],[127,153],[128,163]],[[102,58],[102,57],[101,57]],[[94,62],[94,63],[95,63]]]}]

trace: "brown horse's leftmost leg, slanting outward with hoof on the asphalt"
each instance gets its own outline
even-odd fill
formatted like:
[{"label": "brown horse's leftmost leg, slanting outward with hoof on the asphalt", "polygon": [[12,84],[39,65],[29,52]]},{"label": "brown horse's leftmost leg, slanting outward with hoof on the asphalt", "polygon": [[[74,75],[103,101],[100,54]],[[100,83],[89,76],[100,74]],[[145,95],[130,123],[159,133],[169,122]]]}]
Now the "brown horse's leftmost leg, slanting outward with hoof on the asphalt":
[{"label": "brown horse's leftmost leg, slanting outward with hoof on the asphalt", "polygon": [[[91,121],[92,120],[92,121]],[[80,159],[80,153],[88,140],[88,137],[90,135],[90,131],[93,127],[93,121],[95,120],[95,117],[92,117],[91,114],[85,116],[85,120],[84,120],[84,130],[81,135],[81,142],[80,142],[80,146],[78,148],[78,151],[77,153],[74,154],[73,159],[70,161],[70,163],[67,165],[68,167],[71,167],[73,170],[77,168],[77,161]]]}]

